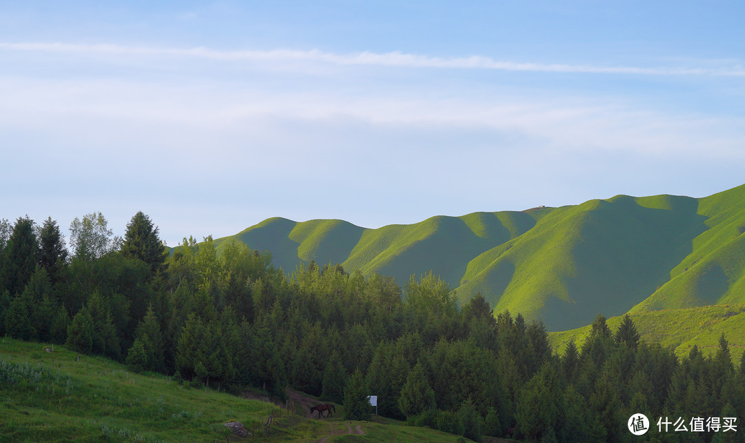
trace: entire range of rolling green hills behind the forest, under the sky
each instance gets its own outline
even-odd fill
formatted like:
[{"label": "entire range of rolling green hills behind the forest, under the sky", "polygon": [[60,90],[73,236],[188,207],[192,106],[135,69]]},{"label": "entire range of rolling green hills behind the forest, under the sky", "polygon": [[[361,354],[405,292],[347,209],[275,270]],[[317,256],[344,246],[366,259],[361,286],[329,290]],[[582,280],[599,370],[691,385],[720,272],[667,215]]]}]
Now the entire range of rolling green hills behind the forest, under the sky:
[{"label": "entire range of rolling green hills behind the forest, under the sky", "polygon": [[378,229],[276,218],[215,243],[238,240],[270,251],[285,271],[315,260],[401,284],[432,270],[461,302],[481,292],[495,311],[567,330],[598,312],[745,302],[744,232],[745,185],[706,198],[618,195]]}]

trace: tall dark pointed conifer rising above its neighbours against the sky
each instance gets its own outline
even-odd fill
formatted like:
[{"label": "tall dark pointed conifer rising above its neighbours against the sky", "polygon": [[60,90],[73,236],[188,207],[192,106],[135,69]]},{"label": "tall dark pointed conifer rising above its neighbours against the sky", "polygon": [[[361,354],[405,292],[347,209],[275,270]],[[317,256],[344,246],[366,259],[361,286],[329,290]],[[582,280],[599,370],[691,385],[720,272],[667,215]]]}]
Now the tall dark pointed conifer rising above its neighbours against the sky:
[{"label": "tall dark pointed conifer rising above its neighbours against the sky", "polygon": [[127,224],[121,254],[148,263],[152,274],[162,271],[167,252],[158,236],[158,227],[142,211],[136,213]]}]

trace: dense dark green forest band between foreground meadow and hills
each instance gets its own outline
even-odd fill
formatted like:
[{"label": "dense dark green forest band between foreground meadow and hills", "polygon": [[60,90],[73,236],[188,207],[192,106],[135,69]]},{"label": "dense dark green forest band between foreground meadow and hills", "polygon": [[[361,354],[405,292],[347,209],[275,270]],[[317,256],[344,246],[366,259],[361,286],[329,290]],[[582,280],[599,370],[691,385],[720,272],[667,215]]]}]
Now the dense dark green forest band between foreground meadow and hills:
[{"label": "dense dark green forest band between foreground meadow and hills", "polygon": [[636,412],[745,417],[745,364],[732,364],[724,336],[713,356],[694,346],[678,359],[641,341],[628,316],[611,331],[599,315],[559,355],[540,321],[495,317],[481,295],[459,307],[432,273],[402,288],[311,261],[288,276],[240,242],[218,254],[212,237],[169,253],[143,213],[124,238],[101,213],[75,219],[67,243],[51,218],[0,221],[0,335],[236,394],[284,398],[289,385],[351,419],[369,419],[377,395],[380,415],[476,441],[745,441],[745,429],[627,431]]}]

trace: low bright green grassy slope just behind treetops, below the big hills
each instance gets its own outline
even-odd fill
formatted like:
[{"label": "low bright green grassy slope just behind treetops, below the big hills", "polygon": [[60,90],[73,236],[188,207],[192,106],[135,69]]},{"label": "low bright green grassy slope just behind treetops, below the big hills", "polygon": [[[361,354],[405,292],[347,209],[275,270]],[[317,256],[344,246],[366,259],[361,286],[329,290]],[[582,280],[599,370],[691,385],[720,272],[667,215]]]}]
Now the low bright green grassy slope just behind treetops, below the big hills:
[{"label": "low bright green grassy slope just behind treetops, below the big hills", "polygon": [[[729,341],[732,360],[738,365],[745,351],[745,304],[714,305],[688,309],[635,312],[631,314],[641,339],[671,346],[678,356],[688,355],[693,345],[704,354],[713,354],[719,346],[719,338]],[[612,331],[621,324],[621,317],[609,318]],[[589,334],[590,327],[549,333],[551,345],[563,354],[566,344],[574,341],[581,346]]]}]

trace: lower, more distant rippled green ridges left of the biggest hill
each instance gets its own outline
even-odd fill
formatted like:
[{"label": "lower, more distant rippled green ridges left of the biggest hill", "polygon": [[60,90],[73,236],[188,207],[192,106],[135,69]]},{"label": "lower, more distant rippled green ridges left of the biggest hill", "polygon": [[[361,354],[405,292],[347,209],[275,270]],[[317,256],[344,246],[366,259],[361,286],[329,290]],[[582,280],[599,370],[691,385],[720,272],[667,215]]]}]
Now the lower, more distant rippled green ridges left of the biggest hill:
[{"label": "lower, more distant rippled green ridges left of the biggest hill", "polygon": [[341,220],[296,222],[274,218],[235,236],[216,239],[218,251],[238,240],[270,251],[275,266],[294,271],[314,260],[341,263],[347,271],[378,272],[403,284],[411,274],[434,271],[454,288],[473,257],[530,230],[535,219],[522,212],[437,216],[415,224],[365,229]]}]

